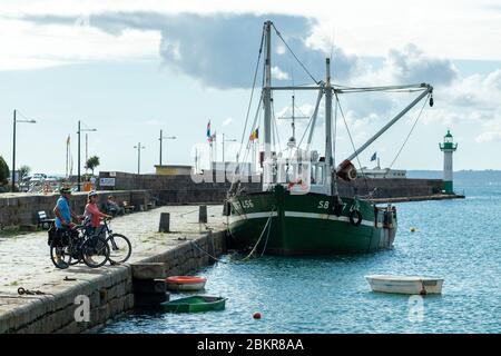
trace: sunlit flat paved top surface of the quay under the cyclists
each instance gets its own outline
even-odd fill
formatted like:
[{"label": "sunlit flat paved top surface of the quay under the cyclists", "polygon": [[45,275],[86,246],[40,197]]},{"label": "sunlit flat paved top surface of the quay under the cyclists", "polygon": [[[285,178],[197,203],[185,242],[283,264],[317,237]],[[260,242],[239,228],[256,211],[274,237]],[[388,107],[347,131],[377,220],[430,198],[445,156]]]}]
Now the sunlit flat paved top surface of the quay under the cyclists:
[{"label": "sunlit flat paved top surface of the quay under the cyclists", "polygon": [[[132,255],[128,263],[166,251],[186,239],[197,238],[200,233],[226,228],[222,206],[208,206],[208,224],[199,225],[198,206],[167,206],[145,212],[135,212],[111,220],[115,233],[126,235],[132,244]],[[160,234],[158,224],[160,212],[170,212],[171,234]],[[186,238],[186,239],[185,239]],[[63,278],[92,278],[115,267],[106,265],[91,269],[84,264],[68,269],[57,269],[49,256],[47,231],[0,237],[0,299],[1,295],[17,295],[19,287],[50,294],[55,287],[63,285]],[[63,288],[63,287],[62,287]],[[1,300],[0,300],[1,301]],[[0,315],[4,310],[0,303]]]}]

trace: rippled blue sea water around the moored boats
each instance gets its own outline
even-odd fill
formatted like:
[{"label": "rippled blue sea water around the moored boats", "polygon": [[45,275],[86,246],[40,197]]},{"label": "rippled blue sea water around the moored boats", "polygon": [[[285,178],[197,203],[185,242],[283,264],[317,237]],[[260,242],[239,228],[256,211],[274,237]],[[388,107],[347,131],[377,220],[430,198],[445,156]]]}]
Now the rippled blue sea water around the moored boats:
[{"label": "rippled blue sea water around the moored boats", "polygon": [[[135,312],[102,333],[501,333],[501,182],[456,188],[468,198],[399,204],[392,250],[218,263],[197,275],[208,278],[206,295],[228,298],[226,310]],[[445,281],[421,303],[372,293],[367,274]]]}]

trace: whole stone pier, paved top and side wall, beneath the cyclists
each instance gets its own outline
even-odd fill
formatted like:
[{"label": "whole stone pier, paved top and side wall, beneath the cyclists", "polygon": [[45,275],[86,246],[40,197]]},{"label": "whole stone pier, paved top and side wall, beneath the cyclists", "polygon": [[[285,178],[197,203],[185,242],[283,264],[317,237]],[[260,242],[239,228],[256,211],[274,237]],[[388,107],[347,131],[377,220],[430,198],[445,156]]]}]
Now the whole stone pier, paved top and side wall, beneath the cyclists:
[{"label": "whole stone pier, paved top and side wall, beneath the cyclists", "polygon": [[[161,263],[166,276],[184,275],[212,264],[226,251],[222,206],[208,206],[208,222],[198,224],[198,207],[161,207],[111,221],[132,243],[132,256],[121,266],[91,269],[78,265],[57,269],[49,257],[47,233],[0,236],[0,334],[82,333],[130,310],[134,305],[129,263]],[[170,214],[170,230],[158,231],[161,212]],[[33,295],[19,295],[22,287]],[[90,314],[86,320],[85,303]],[[84,313],[84,314],[82,314]],[[76,317],[77,314],[77,317]]]}]

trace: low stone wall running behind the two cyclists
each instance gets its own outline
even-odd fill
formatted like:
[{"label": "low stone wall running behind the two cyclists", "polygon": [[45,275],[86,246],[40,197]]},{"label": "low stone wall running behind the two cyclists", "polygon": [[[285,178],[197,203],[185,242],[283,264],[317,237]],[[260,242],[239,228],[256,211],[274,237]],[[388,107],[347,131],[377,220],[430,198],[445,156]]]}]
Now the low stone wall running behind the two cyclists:
[{"label": "low stone wall running behind the two cyclists", "polygon": [[[117,202],[128,201],[139,209],[146,207],[151,200],[151,194],[147,190],[128,191],[98,191],[99,202],[106,201],[108,195],[112,195]],[[38,211],[46,211],[48,217],[53,217],[52,210],[59,195],[31,195],[6,194],[0,195],[0,228],[3,226],[36,225]],[[78,215],[84,214],[87,204],[87,192],[73,192],[70,198],[70,208]]]}]

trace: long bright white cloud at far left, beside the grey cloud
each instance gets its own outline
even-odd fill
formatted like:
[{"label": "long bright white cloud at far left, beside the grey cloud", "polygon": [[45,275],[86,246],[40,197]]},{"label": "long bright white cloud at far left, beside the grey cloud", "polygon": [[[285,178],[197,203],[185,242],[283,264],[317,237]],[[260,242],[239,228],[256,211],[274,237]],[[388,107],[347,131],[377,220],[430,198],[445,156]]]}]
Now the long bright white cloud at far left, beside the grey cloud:
[{"label": "long bright white cloud at far left, beside the grey cloud", "polygon": [[37,26],[0,18],[0,70],[35,69],[81,61],[158,57],[160,34],[128,29],[119,36],[81,26]]}]

